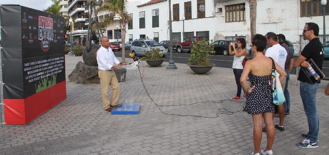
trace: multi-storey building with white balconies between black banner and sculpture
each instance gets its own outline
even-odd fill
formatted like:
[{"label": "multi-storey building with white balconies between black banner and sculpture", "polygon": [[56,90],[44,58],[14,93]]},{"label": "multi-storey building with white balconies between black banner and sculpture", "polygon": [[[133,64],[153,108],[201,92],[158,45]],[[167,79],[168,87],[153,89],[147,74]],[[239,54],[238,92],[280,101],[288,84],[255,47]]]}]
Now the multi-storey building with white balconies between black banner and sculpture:
[{"label": "multi-storey building with white balconies between black banner and sculpture", "polygon": [[88,25],[86,20],[88,19],[88,12],[85,12],[86,0],[68,0],[68,15],[72,18],[73,28],[68,33],[71,35],[72,42],[85,46]]}]

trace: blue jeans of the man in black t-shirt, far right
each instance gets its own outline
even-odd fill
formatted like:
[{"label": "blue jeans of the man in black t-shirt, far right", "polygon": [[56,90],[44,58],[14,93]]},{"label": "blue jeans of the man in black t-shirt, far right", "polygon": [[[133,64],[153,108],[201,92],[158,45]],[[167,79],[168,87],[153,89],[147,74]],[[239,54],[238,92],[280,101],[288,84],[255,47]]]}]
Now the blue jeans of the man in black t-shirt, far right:
[{"label": "blue jeans of the man in black t-shirt, far right", "polygon": [[313,142],[318,141],[319,117],[316,107],[316,93],[319,87],[318,83],[310,84],[300,82],[300,96],[304,105],[304,111],[307,117],[308,133],[307,138]]}]

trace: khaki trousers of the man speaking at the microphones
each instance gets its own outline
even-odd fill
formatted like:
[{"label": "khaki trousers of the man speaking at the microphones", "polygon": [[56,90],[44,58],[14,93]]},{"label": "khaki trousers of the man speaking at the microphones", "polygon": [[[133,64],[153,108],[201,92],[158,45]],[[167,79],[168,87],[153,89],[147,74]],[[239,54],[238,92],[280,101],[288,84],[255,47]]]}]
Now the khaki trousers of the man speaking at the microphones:
[{"label": "khaki trousers of the man speaking at the microphones", "polygon": [[[103,108],[107,109],[110,105],[116,106],[119,100],[120,85],[114,70],[98,70],[98,76],[102,88]],[[112,87],[111,102],[108,99],[108,86]]]}]

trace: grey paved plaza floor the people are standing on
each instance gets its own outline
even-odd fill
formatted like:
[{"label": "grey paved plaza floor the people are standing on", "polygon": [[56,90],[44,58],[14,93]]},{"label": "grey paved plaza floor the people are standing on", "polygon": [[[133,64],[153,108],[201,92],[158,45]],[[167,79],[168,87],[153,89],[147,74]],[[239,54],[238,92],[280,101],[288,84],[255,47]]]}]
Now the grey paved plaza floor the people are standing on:
[{"label": "grey paved plaza floor the people are standing on", "polygon": [[[82,57],[65,58],[68,75]],[[161,107],[164,112],[216,117],[218,108],[237,111],[243,106],[245,99],[229,100],[236,93],[232,69],[213,67],[209,75],[197,75],[186,64],[176,64],[177,70],[167,70],[167,65],[164,62],[151,68],[144,63],[140,67],[154,101],[158,105],[205,103]],[[99,84],[81,85],[66,79],[67,99],[62,103],[26,127],[0,127],[0,154],[251,154],[253,151],[252,119],[246,112],[218,114],[215,119],[163,114],[145,93],[138,72],[127,70],[126,82],[120,83],[119,102],[129,99],[140,103],[140,114],[111,115],[102,108]],[[285,118],[286,130],[276,130],[275,154],[329,154],[329,96],[323,92],[327,83],[323,81],[317,93],[319,148],[303,149],[296,144],[308,126],[296,75],[291,75],[290,115]],[[275,123],[278,122],[275,118]],[[263,133],[261,148],[265,146]]]}]

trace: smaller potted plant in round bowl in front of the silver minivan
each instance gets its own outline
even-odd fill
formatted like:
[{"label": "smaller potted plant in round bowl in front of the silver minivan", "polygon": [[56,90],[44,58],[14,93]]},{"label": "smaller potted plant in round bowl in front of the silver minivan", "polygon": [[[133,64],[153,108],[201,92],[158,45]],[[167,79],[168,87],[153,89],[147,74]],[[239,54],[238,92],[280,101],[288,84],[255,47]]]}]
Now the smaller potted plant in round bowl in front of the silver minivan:
[{"label": "smaller potted plant in round bowl in front of the silver minivan", "polygon": [[160,53],[159,48],[151,48],[150,51],[145,51],[145,56],[142,60],[146,61],[151,67],[158,67],[163,63],[163,53]]}]

